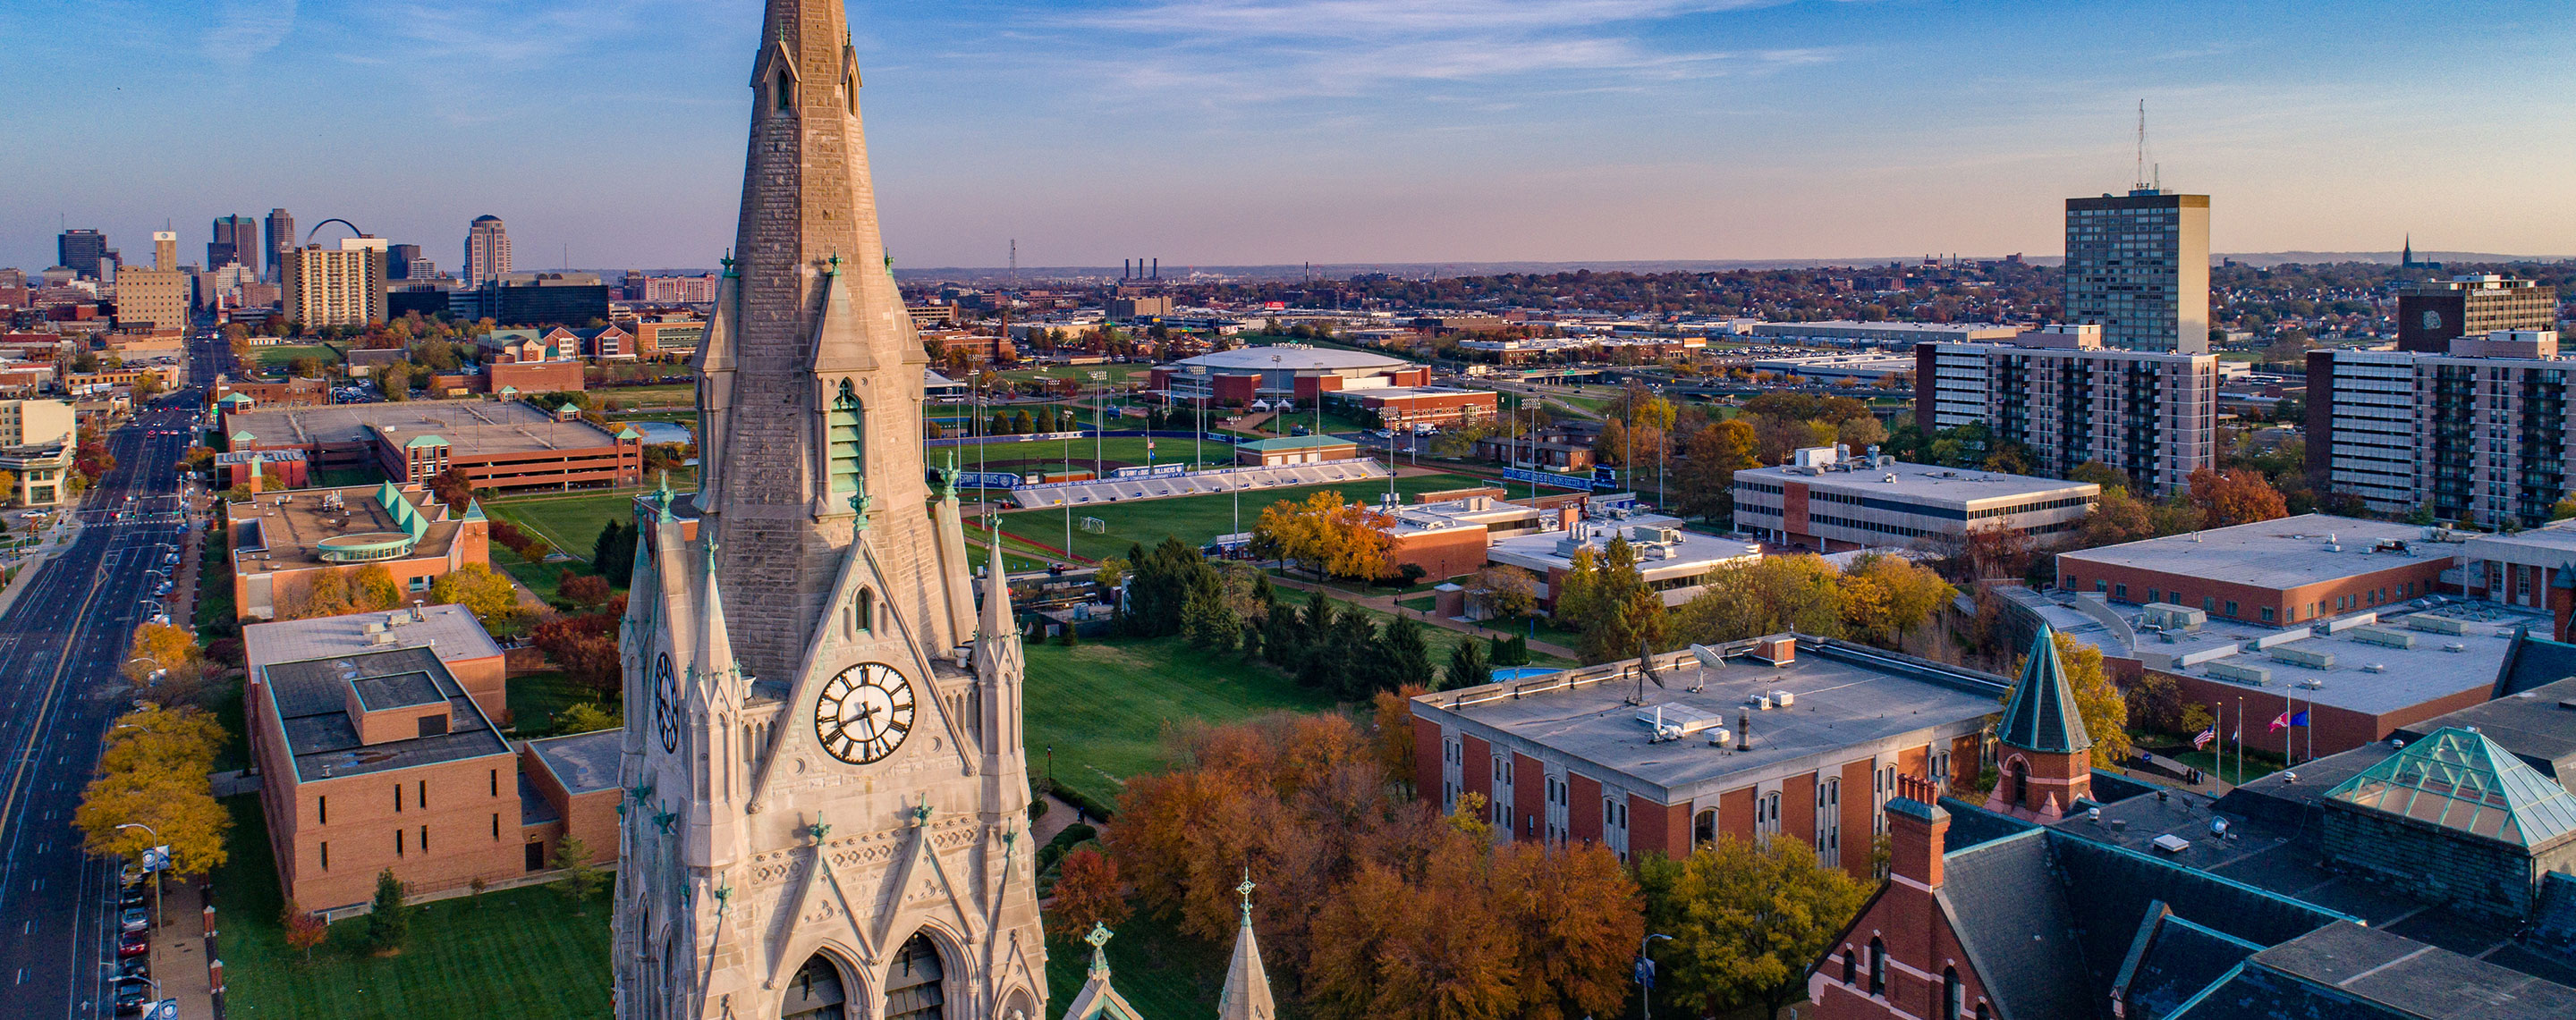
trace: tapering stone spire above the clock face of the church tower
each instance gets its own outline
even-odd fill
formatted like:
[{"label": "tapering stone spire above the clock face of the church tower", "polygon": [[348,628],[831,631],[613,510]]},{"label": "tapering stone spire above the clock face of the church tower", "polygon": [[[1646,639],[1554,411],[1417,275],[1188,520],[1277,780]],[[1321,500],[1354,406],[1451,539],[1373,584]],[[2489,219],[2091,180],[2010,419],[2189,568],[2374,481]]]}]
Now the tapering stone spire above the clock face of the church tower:
[{"label": "tapering stone spire above the clock face of the church tower", "polygon": [[698,510],[724,549],[744,672],[788,680],[827,613],[866,479],[884,603],[951,647],[922,471],[922,353],[868,180],[842,0],[768,0],[742,219],[698,353]]}]

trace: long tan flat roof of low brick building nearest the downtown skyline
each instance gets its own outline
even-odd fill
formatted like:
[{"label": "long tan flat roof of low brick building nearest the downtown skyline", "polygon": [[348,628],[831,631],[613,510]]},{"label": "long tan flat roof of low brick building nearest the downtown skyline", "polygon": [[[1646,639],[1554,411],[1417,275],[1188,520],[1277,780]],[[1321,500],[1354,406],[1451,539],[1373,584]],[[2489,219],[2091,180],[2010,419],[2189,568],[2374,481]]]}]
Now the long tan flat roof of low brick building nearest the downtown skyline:
[{"label": "long tan flat roof of low brick building nearest the downtown skyline", "polygon": [[281,407],[224,415],[227,433],[250,433],[258,446],[355,446],[384,433],[394,446],[422,435],[443,438],[459,453],[541,453],[613,446],[616,438],[585,420],[559,422],[518,399],[440,399],[404,404]]}]

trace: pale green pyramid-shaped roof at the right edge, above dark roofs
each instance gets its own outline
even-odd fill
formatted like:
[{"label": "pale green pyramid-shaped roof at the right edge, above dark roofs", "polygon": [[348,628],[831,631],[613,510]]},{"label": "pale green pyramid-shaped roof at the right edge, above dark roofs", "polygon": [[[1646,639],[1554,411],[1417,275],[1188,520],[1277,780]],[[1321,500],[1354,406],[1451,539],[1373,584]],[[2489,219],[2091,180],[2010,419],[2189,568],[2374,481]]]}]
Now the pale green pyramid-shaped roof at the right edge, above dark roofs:
[{"label": "pale green pyramid-shaped roof at the right edge, above dark roofs", "polygon": [[2326,798],[2517,847],[2576,832],[2576,796],[2476,729],[2442,726]]}]

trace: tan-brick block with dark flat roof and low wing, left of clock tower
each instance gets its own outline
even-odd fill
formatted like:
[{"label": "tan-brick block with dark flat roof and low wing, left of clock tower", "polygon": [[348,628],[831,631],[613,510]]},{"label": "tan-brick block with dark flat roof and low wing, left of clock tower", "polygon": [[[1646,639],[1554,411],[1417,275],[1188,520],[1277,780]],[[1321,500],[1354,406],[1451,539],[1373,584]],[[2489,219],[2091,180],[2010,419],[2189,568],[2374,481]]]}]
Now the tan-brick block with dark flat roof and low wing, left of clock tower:
[{"label": "tan-brick block with dark flat roof and low wing, left of clock tower", "polygon": [[616,858],[623,732],[513,747],[502,649],[461,605],[258,623],[242,647],[278,886],[304,909],[363,907],[386,868],[415,899],[520,878],[564,832]]}]

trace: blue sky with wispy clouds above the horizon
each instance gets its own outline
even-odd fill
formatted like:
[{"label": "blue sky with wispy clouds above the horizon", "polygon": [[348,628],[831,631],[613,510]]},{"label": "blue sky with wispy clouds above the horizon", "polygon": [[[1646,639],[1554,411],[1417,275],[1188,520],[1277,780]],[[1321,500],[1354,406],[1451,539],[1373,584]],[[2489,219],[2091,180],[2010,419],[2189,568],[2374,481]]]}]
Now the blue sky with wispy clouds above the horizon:
[{"label": "blue sky with wispy clouds above the horizon", "polygon": [[[2259,8],[2259,10],[2246,10]],[[2136,103],[2218,250],[2576,252],[2576,26],[2481,3],[855,0],[902,265],[2056,255]],[[732,242],[755,0],[0,0],[0,265],[291,209]]]}]

